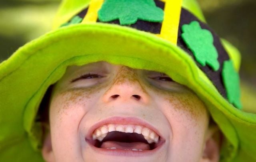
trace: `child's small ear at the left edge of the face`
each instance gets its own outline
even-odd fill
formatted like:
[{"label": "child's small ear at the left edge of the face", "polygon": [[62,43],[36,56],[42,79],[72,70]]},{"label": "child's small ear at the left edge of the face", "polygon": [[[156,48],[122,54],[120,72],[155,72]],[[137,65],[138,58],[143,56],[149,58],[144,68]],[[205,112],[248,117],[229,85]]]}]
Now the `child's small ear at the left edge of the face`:
[{"label": "child's small ear at the left edge of the face", "polygon": [[46,162],[54,162],[54,154],[52,151],[52,141],[50,133],[48,133],[46,138],[44,139],[42,156]]}]

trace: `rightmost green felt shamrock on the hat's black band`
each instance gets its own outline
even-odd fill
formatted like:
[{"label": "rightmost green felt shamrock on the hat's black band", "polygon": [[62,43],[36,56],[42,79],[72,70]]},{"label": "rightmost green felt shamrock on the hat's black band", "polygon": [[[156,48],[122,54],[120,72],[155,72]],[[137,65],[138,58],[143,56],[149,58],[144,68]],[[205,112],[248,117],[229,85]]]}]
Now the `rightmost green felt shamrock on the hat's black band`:
[{"label": "rightmost green felt shamrock on the hat's black band", "polygon": [[222,80],[227,91],[228,101],[241,109],[239,75],[234,68],[232,60],[224,61]]}]

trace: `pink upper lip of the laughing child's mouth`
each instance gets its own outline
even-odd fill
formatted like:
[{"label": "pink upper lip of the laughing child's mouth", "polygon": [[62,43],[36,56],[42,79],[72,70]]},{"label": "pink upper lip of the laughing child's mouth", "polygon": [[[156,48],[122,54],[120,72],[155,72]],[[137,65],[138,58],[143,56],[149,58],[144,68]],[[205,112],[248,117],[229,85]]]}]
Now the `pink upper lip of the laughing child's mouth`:
[{"label": "pink upper lip of the laughing child's mouth", "polygon": [[94,130],[96,130],[97,128],[99,128],[100,126],[103,126],[105,124],[131,124],[131,125],[141,125],[141,126],[145,126],[147,128],[149,128],[150,130],[153,130],[154,132],[156,132],[156,134],[158,134],[158,136],[160,136],[160,138],[163,139],[163,136],[160,134],[160,132],[151,124],[149,124],[148,122],[140,119],[140,118],[136,118],[136,117],[119,117],[119,116],[114,116],[114,117],[110,117],[107,118],[105,120],[102,120],[96,124],[94,124],[88,131],[86,139],[88,140],[92,140],[92,133],[94,132]]}]

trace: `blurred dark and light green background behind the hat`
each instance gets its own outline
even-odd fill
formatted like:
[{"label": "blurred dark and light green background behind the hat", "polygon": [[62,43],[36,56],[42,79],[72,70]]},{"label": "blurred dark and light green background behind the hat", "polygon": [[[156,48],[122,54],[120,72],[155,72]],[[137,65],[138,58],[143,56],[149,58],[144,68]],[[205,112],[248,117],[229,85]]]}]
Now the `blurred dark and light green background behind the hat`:
[{"label": "blurred dark and light green background behind the hat", "polygon": [[[256,112],[256,0],[198,0],[208,24],[242,54],[242,102]],[[0,62],[51,30],[60,0],[0,0]]]}]

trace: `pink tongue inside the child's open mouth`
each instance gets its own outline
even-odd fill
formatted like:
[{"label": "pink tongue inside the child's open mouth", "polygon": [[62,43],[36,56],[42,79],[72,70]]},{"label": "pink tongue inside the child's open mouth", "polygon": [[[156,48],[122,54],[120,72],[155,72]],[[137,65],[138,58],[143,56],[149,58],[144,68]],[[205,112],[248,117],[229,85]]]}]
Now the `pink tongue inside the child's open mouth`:
[{"label": "pink tongue inside the child's open mouth", "polygon": [[136,148],[137,150],[150,150],[150,146],[148,144],[145,144],[143,142],[117,142],[117,141],[106,141],[103,142],[100,148],[112,148],[116,147],[116,149],[121,150],[132,150],[133,148]]}]

